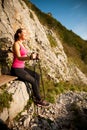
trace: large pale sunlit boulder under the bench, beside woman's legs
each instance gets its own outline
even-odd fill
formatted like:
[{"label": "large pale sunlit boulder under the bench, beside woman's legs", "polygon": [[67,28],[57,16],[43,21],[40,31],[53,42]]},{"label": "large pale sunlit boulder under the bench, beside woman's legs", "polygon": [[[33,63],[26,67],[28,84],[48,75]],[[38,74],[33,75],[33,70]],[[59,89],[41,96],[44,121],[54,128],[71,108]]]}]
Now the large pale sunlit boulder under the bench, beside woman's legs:
[{"label": "large pale sunlit boulder under the bench, beside woman's legs", "polygon": [[11,86],[8,92],[12,93],[13,98],[9,108],[9,118],[11,120],[27,105],[29,94],[27,92],[26,85],[21,81],[16,81],[16,86]]}]

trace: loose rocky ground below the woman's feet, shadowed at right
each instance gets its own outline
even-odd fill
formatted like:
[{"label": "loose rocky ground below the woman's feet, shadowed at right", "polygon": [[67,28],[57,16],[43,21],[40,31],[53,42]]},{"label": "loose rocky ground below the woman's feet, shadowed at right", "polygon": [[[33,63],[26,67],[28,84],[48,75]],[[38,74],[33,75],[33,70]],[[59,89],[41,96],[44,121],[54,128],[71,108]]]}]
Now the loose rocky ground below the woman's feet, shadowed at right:
[{"label": "loose rocky ground below the woman's feet, shadowed at right", "polygon": [[9,126],[12,130],[87,130],[87,93],[60,94],[48,108],[32,104]]}]

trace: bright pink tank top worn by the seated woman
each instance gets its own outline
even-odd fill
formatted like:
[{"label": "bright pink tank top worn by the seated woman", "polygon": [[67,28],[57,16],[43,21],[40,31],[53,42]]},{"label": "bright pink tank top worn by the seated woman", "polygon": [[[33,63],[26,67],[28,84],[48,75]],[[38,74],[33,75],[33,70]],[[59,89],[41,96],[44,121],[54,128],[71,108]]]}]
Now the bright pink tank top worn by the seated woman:
[{"label": "bright pink tank top worn by the seated woman", "polygon": [[[22,57],[27,55],[27,50],[23,46],[20,46],[20,54]],[[18,58],[14,54],[12,68],[24,68],[24,66],[25,61],[18,60]]]}]

